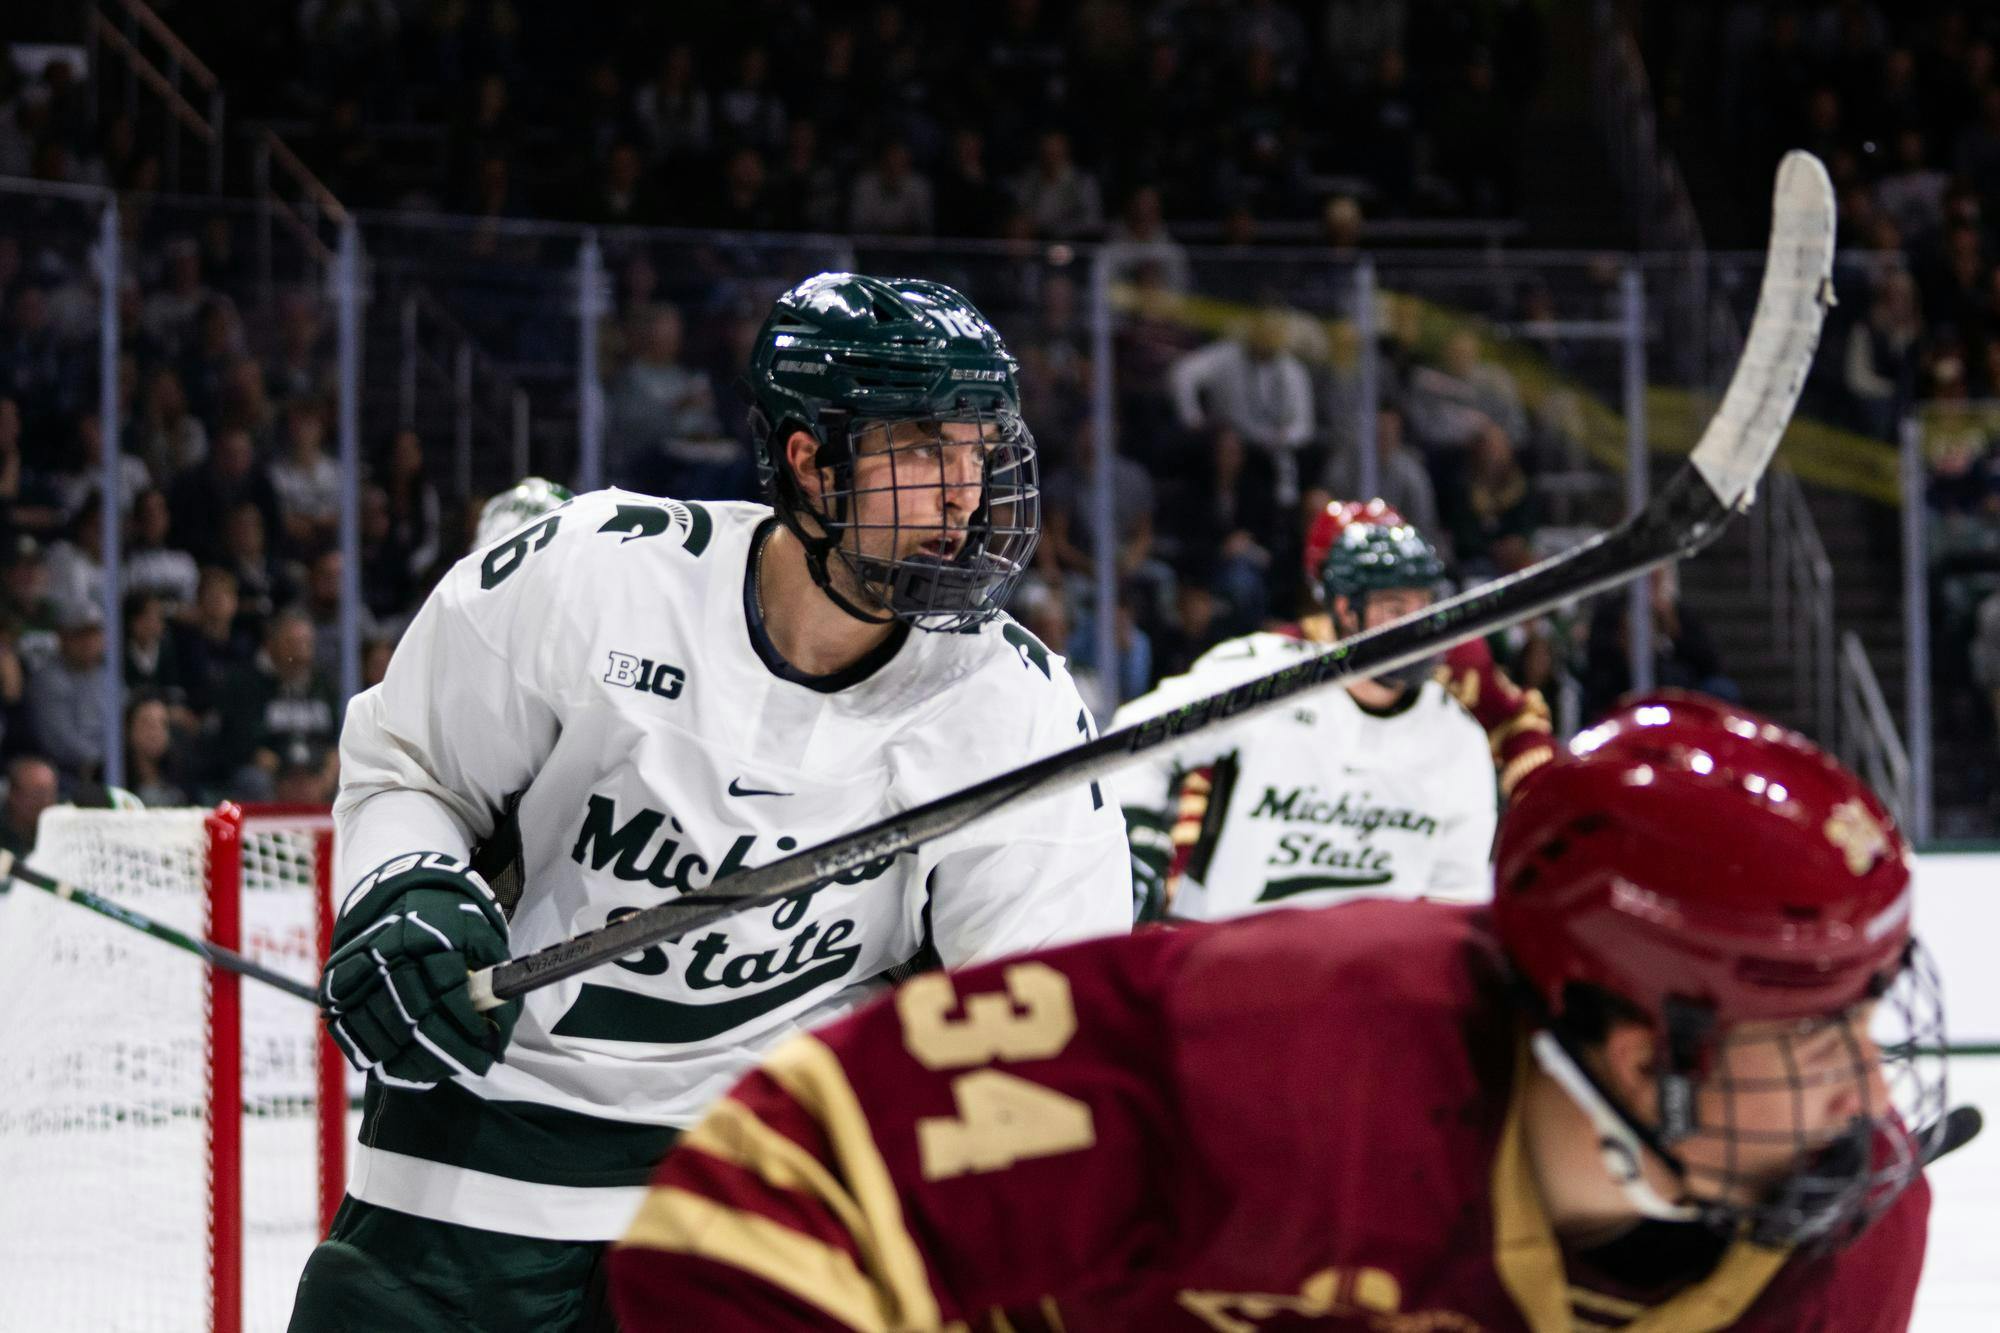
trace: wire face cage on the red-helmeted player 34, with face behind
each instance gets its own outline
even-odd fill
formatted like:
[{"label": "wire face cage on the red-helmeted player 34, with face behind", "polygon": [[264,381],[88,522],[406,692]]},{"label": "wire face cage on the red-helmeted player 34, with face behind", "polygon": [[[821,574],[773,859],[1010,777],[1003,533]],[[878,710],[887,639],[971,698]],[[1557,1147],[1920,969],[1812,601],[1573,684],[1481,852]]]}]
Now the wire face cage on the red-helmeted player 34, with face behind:
[{"label": "wire face cage on the red-helmeted player 34, with face behind", "polygon": [[[1860,1013],[1848,1011],[1782,1033],[1726,1035],[1706,1053],[1706,1069],[1662,1075],[1658,1137],[1704,1201],[1708,1225],[1760,1245],[1832,1249],[1916,1179],[1926,1135],[1942,1133],[1946,1111],[1942,991],[1916,941],[1874,1003],[1868,1035],[1880,1061],[1858,1023]],[[1810,1069],[1802,1051],[1814,1053]],[[1872,1091],[1876,1079],[1886,1105]],[[1872,1115],[1840,1129],[1808,1125],[1808,1099],[1842,1089]],[[1702,1091],[1704,1105],[1720,1105],[1718,1123],[1692,1115]],[[1774,1161],[1792,1163],[1778,1181],[1768,1175]]]}]

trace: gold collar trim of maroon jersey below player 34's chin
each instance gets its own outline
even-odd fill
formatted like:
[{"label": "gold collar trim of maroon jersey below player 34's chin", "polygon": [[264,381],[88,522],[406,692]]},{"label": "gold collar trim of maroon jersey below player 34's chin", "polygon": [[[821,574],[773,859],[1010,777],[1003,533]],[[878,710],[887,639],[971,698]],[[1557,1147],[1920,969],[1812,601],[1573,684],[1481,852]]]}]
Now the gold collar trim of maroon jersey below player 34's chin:
[{"label": "gold collar trim of maroon jersey below player 34's chin", "polygon": [[[1522,1127],[1522,1105],[1534,1069],[1528,1035],[1522,1033],[1514,1049],[1514,1093],[1500,1131],[1500,1151],[1494,1155],[1494,1269],[1534,1333],[1568,1333],[1574,1317],[1572,1289],[1562,1267],[1562,1245],[1534,1187]],[[1750,1309],[1788,1257],[1786,1249],[1736,1241],[1708,1277],[1654,1305],[1624,1325],[1622,1333],[1726,1329]]]}]

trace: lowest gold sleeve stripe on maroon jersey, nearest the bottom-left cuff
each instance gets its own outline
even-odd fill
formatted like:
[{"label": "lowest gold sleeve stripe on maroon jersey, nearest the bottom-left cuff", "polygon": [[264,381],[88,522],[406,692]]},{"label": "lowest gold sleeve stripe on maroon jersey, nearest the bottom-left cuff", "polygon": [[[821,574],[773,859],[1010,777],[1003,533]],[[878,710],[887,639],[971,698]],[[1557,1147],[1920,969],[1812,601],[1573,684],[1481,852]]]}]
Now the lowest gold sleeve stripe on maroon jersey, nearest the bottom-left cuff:
[{"label": "lowest gold sleeve stripe on maroon jersey, nearest the bottom-left cuff", "polygon": [[846,1251],[686,1189],[648,1193],[622,1243],[714,1259],[764,1279],[854,1333],[890,1331],[880,1293]]}]

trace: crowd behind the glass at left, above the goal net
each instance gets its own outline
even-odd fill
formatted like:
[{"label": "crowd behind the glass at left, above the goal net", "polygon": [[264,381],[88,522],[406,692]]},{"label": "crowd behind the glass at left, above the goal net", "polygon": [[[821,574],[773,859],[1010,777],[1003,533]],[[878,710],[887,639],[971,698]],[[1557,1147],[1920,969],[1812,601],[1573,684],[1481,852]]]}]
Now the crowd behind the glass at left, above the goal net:
[{"label": "crowd behind the glass at left, above the goal net", "polygon": [[[0,759],[10,791],[102,801],[106,570],[122,540],[124,787],[148,805],[334,791],[340,472],[318,298],[268,314],[192,236],[138,236],[120,296],[116,502],[104,502],[88,248],[22,204],[0,230]],[[46,222],[46,224],[44,224]],[[254,336],[252,336],[254,328]],[[462,524],[412,432],[362,492],[366,679]],[[12,797],[10,797],[12,801]],[[10,803],[0,845],[14,845]]]}]

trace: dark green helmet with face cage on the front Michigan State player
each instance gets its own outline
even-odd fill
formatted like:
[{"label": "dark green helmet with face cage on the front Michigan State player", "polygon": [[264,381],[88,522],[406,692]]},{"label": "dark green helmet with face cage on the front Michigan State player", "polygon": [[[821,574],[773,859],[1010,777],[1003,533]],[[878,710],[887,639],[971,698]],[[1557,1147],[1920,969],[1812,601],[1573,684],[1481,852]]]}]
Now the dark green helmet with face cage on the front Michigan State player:
[{"label": "dark green helmet with face cage on the front Michigan State player", "polygon": [[[1018,362],[962,294],[920,278],[822,272],[778,296],[750,352],[758,478],[848,614],[956,630],[1006,604],[1040,538],[1034,436]],[[788,462],[806,432],[830,482],[808,494]],[[978,490],[946,474],[976,448]],[[872,480],[858,460],[884,454]],[[940,518],[908,496],[944,490]],[[850,578],[834,578],[834,562]]]}]

